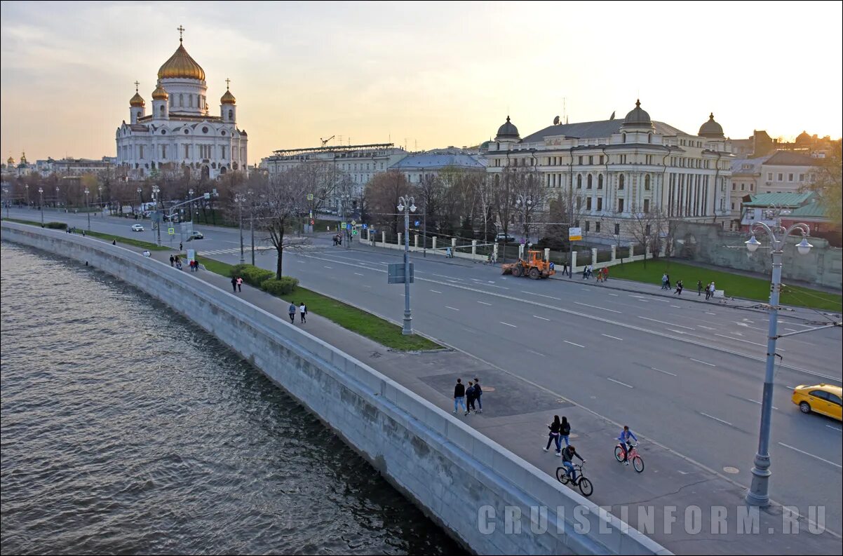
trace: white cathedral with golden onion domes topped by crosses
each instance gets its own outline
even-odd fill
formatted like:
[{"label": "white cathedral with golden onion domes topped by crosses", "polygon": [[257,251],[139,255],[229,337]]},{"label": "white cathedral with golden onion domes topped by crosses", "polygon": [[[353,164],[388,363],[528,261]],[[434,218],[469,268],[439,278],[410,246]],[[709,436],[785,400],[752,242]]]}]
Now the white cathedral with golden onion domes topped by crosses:
[{"label": "white cathedral with golden onion domes topped by crosses", "polygon": [[237,101],[228,79],[226,83],[219,115],[210,115],[205,71],[187,53],[180,36],[179,48],[158,69],[149,114],[135,82],[129,122],[123,120],[115,137],[121,174],[143,179],[169,171],[217,179],[227,172],[246,171],[249,137],[237,127]]}]

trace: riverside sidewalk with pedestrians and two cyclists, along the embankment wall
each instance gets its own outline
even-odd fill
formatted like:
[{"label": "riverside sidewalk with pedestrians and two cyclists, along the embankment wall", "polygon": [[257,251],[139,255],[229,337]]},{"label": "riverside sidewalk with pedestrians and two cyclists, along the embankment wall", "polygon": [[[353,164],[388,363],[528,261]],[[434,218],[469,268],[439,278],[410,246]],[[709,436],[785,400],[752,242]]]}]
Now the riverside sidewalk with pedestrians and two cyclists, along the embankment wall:
[{"label": "riverside sidewalk with pedestrians and two cyclists, along the embankment wall", "polygon": [[[155,252],[152,257],[169,264],[168,252]],[[186,268],[181,271],[190,272]],[[230,291],[231,283],[225,276],[207,270],[191,275],[196,280]],[[287,307],[289,302],[295,301],[294,298],[282,300],[245,284],[243,291],[235,295],[289,322]],[[780,506],[771,506],[759,514],[759,531],[775,531],[776,534],[739,534],[734,514],[738,512],[737,508],[745,507],[743,487],[646,439],[642,439],[639,448],[647,468],[644,473],[635,473],[631,467],[615,462],[612,455],[615,437],[621,427],[619,423],[599,417],[572,404],[560,393],[526,381],[489,362],[459,350],[392,351],[319,317],[319,307],[309,307],[307,323],[298,323],[298,319],[297,315],[295,326],[307,329],[310,334],[400,382],[448,413],[454,409],[456,378],[462,377],[467,383],[479,377],[484,391],[484,412],[469,416],[460,413],[454,415],[454,419],[464,420],[552,476],[560,465],[560,458],[555,457],[552,451],[543,452],[541,449],[547,441],[546,425],[554,414],[566,415],[573,427],[572,444],[575,443],[578,451],[588,459],[585,469],[595,485],[590,500],[610,507],[615,516],[647,533],[674,553],[780,553],[783,546],[796,546],[794,543],[798,543],[800,553],[840,551],[838,538],[827,532],[810,534],[806,531],[808,526],[805,522],[800,523],[798,536],[781,533]],[[711,534],[709,508],[721,506],[728,511],[728,532]],[[685,509],[689,507],[703,509],[702,534],[689,531],[687,525],[683,527]],[[477,509],[467,508],[466,511],[476,512]],[[639,511],[654,513],[653,522],[658,527],[647,530],[644,527],[646,521],[638,522]],[[662,524],[670,521],[672,511],[676,521],[672,531],[666,532]]]}]

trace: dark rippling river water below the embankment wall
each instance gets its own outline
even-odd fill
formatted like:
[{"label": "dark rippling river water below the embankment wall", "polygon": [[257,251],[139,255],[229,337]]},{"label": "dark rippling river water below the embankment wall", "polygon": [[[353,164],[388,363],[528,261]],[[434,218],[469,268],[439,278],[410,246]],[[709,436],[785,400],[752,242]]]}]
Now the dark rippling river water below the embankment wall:
[{"label": "dark rippling river water below the embankment wall", "polygon": [[255,367],[109,275],[3,243],[3,553],[455,553]]}]

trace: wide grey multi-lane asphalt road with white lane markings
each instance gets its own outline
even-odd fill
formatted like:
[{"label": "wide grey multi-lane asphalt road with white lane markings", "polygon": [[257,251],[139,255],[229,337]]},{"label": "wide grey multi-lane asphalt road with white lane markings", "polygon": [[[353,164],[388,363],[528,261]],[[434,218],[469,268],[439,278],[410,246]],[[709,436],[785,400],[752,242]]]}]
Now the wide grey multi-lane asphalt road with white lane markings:
[{"label": "wide grey multi-lane asphalt road with white lane markings", "polygon": [[[39,220],[38,211],[13,209],[11,216]],[[55,211],[45,211],[45,219],[87,225],[84,216]],[[94,230],[153,240],[148,221],[142,222],[147,228],[142,233],[130,231],[134,220],[92,217],[91,222]],[[200,254],[239,261],[236,229],[196,228],[206,236],[190,243]],[[248,231],[244,238],[248,261]],[[315,239],[314,247],[319,249],[287,252],[285,274],[400,323],[404,287],[389,286],[386,279],[387,265],[400,262],[399,251],[335,248],[327,237]],[[766,313],[612,290],[578,276],[531,281],[438,256],[413,261],[414,329],[626,423],[649,441],[740,484],[750,483]],[[274,251],[261,250],[256,262],[274,270]],[[318,307],[312,310],[318,313]],[[810,326],[787,315],[779,322],[781,332]],[[836,533],[843,528],[843,427],[801,414],[790,398],[797,384],[840,384],[840,345],[840,329],[778,342],[771,438],[771,498],[803,511],[825,505],[826,527]]]}]

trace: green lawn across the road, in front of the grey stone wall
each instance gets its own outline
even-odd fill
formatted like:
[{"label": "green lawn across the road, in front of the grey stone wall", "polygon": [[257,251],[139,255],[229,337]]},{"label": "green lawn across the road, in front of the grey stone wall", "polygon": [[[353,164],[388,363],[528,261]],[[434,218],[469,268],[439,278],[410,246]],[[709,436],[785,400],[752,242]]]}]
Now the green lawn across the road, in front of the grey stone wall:
[{"label": "green lawn across the road, in front of the grey stone wall", "polygon": [[[769,280],[735,275],[723,270],[709,270],[699,266],[683,265],[667,259],[647,260],[647,268],[644,268],[644,261],[642,260],[611,266],[609,267],[609,280],[624,278],[636,282],[661,284],[664,272],[670,275],[671,285],[674,285],[677,280],[683,281],[687,293],[696,293],[696,281],[701,280],[705,285],[713,280],[717,289],[726,291],[728,297],[745,297],[758,301],[770,299]],[[780,301],[783,305],[840,312],[840,307],[843,305],[843,296],[806,287],[784,286],[781,289]]]}]

